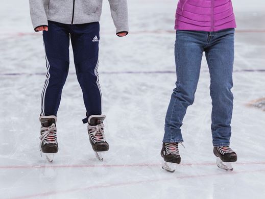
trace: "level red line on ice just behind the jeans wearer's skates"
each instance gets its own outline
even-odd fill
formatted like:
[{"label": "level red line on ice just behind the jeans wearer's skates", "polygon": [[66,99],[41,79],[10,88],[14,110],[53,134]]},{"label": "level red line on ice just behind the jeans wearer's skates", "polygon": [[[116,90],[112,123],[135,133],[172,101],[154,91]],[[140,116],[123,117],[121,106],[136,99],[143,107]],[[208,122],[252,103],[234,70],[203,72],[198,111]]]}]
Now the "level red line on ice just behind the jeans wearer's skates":
[{"label": "level red line on ice just behind the jeans wearer's skates", "polygon": [[[212,166],[216,163],[183,163],[179,166]],[[234,165],[265,165],[265,162],[237,162]],[[131,167],[157,167],[161,166],[161,163],[142,163],[142,164],[88,164],[88,165],[54,165],[54,164],[45,164],[45,165],[18,165],[18,166],[0,166],[0,169],[20,169],[20,168],[131,168]]]}]

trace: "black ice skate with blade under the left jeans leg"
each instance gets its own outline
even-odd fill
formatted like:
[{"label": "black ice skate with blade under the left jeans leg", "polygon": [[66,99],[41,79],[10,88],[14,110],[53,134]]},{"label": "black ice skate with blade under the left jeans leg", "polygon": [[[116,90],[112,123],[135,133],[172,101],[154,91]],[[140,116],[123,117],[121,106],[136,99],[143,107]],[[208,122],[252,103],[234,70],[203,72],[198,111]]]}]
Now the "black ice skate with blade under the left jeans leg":
[{"label": "black ice skate with blade under the left jeans leg", "polygon": [[161,156],[164,159],[162,168],[168,172],[174,172],[177,164],[180,163],[181,158],[179,155],[179,143],[163,143]]}]

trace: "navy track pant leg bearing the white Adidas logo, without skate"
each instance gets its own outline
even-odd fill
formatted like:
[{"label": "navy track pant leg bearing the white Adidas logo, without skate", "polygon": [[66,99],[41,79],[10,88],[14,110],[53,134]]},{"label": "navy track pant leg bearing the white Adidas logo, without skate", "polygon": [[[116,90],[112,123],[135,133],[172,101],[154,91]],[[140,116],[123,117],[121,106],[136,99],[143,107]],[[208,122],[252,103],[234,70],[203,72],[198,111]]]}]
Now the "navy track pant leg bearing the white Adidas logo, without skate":
[{"label": "navy track pant leg bearing the white Adidas logo, without skate", "polygon": [[87,117],[101,115],[102,108],[98,74],[99,30],[99,22],[93,22],[74,25],[71,32],[77,78],[83,92]]}]

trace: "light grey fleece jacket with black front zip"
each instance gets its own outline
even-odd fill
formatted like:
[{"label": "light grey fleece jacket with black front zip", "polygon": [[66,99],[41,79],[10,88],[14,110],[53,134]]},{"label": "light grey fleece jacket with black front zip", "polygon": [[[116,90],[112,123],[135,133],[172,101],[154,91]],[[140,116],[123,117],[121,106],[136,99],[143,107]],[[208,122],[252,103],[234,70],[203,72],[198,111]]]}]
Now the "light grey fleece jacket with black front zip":
[{"label": "light grey fleece jacket with black front zip", "polygon": [[[82,24],[100,21],[103,0],[29,0],[34,30],[48,21]],[[127,0],[109,0],[116,33],[128,32]]]}]

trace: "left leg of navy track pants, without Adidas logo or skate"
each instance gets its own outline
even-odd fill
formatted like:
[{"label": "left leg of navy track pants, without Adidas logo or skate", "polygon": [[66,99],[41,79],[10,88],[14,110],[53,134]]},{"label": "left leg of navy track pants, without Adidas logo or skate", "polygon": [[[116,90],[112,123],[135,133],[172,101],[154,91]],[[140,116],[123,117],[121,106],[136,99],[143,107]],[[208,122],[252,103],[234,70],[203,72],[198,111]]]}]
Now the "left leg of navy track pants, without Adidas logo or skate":
[{"label": "left leg of navy track pants, without Adidas logo or skate", "polygon": [[62,24],[49,21],[43,41],[47,73],[41,93],[41,115],[56,116],[69,69],[69,33]]}]

